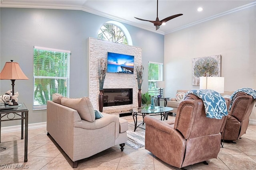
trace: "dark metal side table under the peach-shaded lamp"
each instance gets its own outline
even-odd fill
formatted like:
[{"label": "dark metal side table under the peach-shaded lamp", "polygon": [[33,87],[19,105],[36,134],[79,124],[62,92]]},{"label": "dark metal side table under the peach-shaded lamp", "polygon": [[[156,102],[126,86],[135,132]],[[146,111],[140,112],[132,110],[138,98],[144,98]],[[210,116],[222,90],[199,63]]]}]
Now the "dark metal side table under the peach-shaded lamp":
[{"label": "dark metal side table under the peach-shaded lamp", "polygon": [[[18,116],[18,118],[15,118]],[[25,119],[25,150],[24,162],[28,162],[28,109],[24,103],[18,103],[18,106],[1,106],[0,107],[0,143],[1,143],[1,122],[21,120],[21,139],[23,139]]]}]

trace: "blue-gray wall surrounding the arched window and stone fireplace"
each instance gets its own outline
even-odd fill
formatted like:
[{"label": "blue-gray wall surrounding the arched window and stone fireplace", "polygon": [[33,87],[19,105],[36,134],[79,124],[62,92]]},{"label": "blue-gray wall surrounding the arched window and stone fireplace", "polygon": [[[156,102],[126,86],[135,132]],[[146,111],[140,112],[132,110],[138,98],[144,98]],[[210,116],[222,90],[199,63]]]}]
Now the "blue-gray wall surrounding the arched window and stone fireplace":
[{"label": "blue-gray wall surrounding the arched window and stone fireplace", "polygon": [[[70,50],[70,97],[88,96],[88,37],[97,38],[108,18],[77,10],[0,8],[0,68],[6,61],[18,62],[29,80],[16,80],[18,102],[29,109],[29,123],[46,121],[46,111],[33,111],[33,46]],[[164,36],[124,24],[133,45],[142,47],[145,66],[142,92],[148,89],[148,61],[163,63]],[[0,94],[11,89],[10,80],[1,80]],[[20,121],[2,122],[2,127]]]}]

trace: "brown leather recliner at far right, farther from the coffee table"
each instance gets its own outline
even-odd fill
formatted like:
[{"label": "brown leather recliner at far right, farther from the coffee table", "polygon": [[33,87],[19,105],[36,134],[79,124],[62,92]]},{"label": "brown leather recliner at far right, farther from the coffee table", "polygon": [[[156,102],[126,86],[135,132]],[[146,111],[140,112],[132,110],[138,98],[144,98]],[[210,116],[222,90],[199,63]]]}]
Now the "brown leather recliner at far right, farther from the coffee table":
[{"label": "brown leather recliner at far right, farther from the coffee table", "polygon": [[236,141],[246,133],[254,104],[255,100],[252,96],[244,92],[235,94],[222,132],[224,141]]}]

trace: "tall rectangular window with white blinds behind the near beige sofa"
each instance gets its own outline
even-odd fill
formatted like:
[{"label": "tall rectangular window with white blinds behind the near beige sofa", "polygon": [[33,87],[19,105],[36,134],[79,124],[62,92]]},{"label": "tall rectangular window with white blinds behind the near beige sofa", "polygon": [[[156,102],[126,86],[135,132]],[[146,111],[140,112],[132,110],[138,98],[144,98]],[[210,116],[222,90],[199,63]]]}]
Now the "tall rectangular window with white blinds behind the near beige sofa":
[{"label": "tall rectangular window with white blinds behind the near beige sofa", "polygon": [[70,51],[34,46],[33,109],[46,109],[52,94],[69,96]]}]

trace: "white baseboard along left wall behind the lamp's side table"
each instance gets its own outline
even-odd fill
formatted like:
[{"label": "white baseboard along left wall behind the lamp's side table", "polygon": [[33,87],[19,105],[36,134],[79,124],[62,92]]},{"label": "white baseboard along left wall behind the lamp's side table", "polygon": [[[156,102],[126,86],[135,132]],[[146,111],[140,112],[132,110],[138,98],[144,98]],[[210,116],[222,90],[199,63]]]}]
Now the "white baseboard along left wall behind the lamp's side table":
[{"label": "white baseboard along left wall behind the lamp's side table", "polygon": [[[25,125],[24,125],[24,127],[25,127]],[[42,128],[42,127],[46,127],[46,122],[28,124],[28,130],[38,129],[38,128]],[[17,131],[20,131],[20,128],[21,128],[20,125],[2,127],[1,133],[17,132]]]}]

